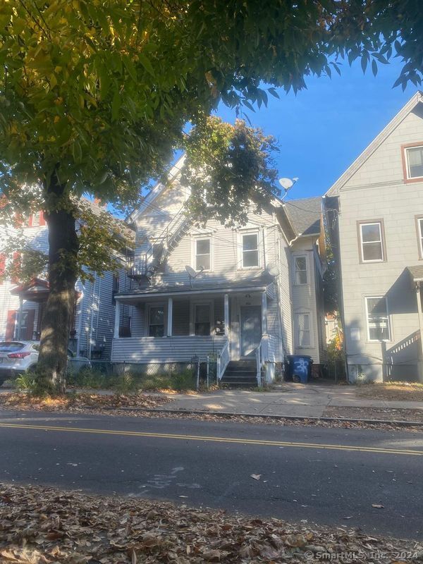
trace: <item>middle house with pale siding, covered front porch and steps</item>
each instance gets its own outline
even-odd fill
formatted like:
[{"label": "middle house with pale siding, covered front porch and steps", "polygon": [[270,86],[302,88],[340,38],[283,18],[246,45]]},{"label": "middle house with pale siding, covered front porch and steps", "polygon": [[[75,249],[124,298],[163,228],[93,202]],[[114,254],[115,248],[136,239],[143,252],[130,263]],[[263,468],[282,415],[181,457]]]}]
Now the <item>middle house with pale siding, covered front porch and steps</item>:
[{"label": "middle house with pale siding, covered front porch and steps", "polygon": [[[130,217],[133,286],[116,295],[112,362],[152,372],[209,357],[220,381],[245,384],[271,381],[295,350],[319,364],[321,201],[274,198],[261,214],[252,206],[240,228],[214,219],[197,227],[185,214],[180,163],[171,185],[156,185]],[[130,337],[118,334],[125,306],[132,307]]]}]

